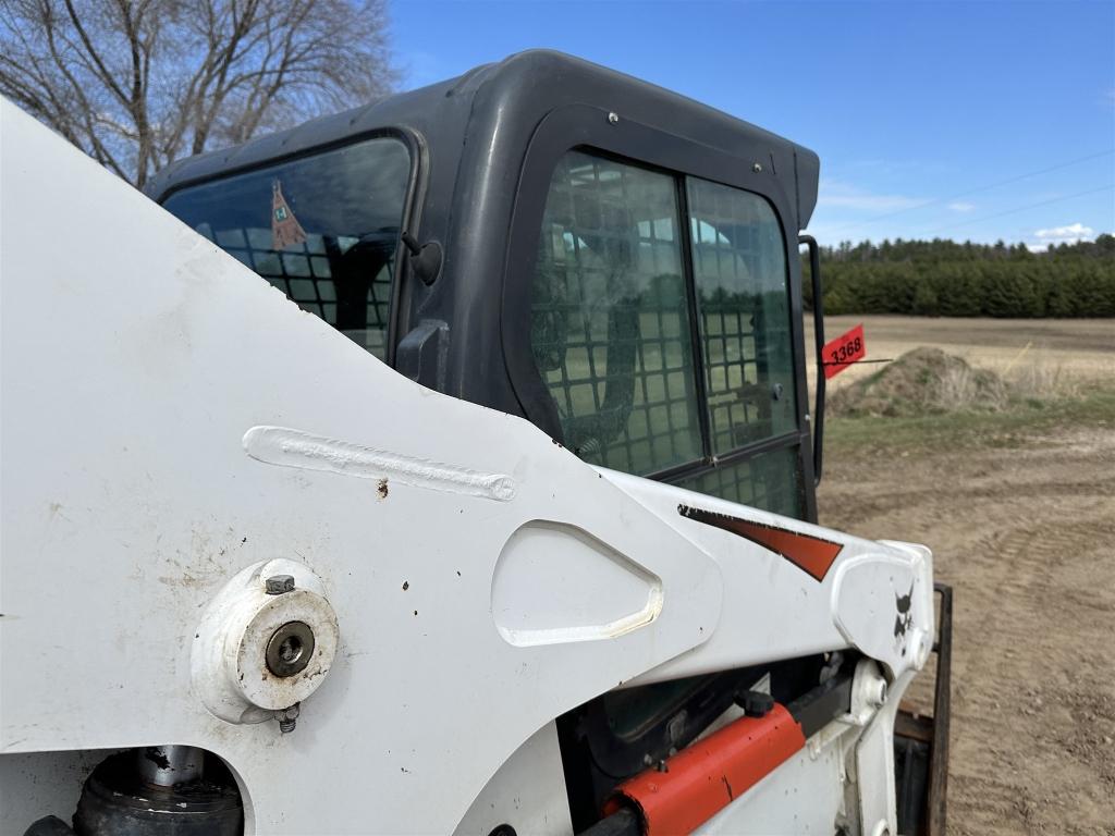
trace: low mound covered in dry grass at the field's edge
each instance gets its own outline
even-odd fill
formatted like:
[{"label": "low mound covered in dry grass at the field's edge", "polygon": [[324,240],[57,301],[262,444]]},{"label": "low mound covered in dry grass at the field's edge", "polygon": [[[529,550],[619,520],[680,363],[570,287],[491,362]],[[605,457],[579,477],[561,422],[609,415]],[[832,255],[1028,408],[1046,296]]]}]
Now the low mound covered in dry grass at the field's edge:
[{"label": "low mound covered in dry grass at the field's edge", "polygon": [[935,348],[915,348],[880,371],[837,389],[825,411],[832,416],[918,416],[961,409],[1001,409],[1007,385],[992,371]]}]

